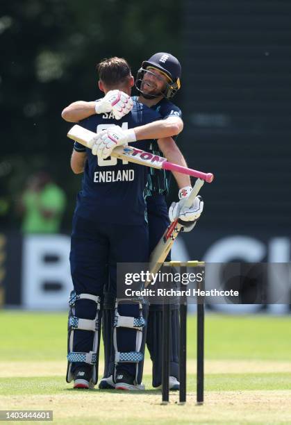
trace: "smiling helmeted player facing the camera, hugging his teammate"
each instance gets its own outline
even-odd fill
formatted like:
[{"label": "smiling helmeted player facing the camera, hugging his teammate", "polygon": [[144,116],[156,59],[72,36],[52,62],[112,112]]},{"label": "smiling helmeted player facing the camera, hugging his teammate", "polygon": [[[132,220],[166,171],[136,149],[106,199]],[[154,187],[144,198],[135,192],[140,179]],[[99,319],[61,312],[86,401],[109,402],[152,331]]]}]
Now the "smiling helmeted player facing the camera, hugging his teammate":
[{"label": "smiling helmeted player facing the camera, hugging his teammate", "polygon": [[[133,103],[142,101],[147,104],[152,111],[159,114],[160,119],[153,119],[151,124],[135,127],[134,130],[124,131],[122,128],[107,128],[97,134],[95,140],[92,141],[92,151],[97,154],[100,160],[106,160],[112,149],[117,144],[127,142],[135,142],[136,139],[152,139],[151,150],[160,154],[160,149],[168,160],[181,165],[186,165],[181,152],[176,147],[169,135],[178,134],[183,128],[181,120],[181,111],[169,101],[176,90],[180,87],[181,66],[178,60],[169,53],[156,53],[149,61],[142,64],[142,68],[138,73],[137,88],[140,90],[140,97],[132,98]],[[81,117],[90,116],[92,114],[105,113],[115,116],[117,119],[124,117],[128,110],[131,110],[132,101],[122,93],[119,97],[117,92],[110,91],[103,99],[97,102],[75,102],[63,111],[63,117],[68,121],[78,121]],[[94,107],[94,112],[92,108]],[[160,139],[159,143],[153,139]],[[135,142],[136,143],[136,142]],[[156,170],[155,170],[156,171]],[[179,188],[179,195],[188,196],[190,194],[190,179],[188,176],[176,174],[176,180]],[[147,176],[147,209],[149,217],[149,252],[156,246],[160,236],[169,224],[167,205],[165,203],[165,194],[169,188],[169,175],[165,172],[151,172]],[[197,219],[201,214],[203,203],[197,198],[192,208],[187,211],[183,210],[183,199],[179,203],[174,203],[170,208],[169,215],[171,219],[177,216],[183,216],[183,219]],[[110,329],[114,322],[114,306],[115,294],[111,285],[105,293],[104,310],[103,310],[103,340],[105,343],[106,367],[104,378],[101,380],[99,387],[114,387],[113,382],[113,366],[115,360],[115,348],[110,343]],[[147,345],[153,360],[153,386],[160,385],[161,376],[161,341],[156,335],[161,335],[162,309],[160,306],[151,306],[151,314],[149,315],[149,327],[147,333]],[[172,355],[171,355],[171,377],[170,387],[178,389],[178,312],[174,308],[172,311]],[[128,376],[127,376],[128,378]],[[118,383],[117,386],[118,387]]]}]

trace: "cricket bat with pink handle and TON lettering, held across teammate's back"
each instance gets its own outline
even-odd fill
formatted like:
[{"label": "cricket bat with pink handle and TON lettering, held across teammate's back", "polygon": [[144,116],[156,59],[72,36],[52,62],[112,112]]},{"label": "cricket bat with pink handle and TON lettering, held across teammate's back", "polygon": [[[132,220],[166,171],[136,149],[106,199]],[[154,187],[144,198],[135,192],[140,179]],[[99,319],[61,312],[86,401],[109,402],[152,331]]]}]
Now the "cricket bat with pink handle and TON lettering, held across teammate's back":
[{"label": "cricket bat with pink handle and TON lettering, held across teammate's back", "polygon": [[[96,136],[96,133],[87,130],[87,128],[78,126],[77,124],[71,128],[69,133],[67,133],[68,138],[76,140],[76,142],[83,144],[85,147],[89,147],[88,142],[90,142],[94,136]],[[196,169],[169,163],[166,158],[163,158],[163,156],[158,156],[150,152],[142,151],[141,149],[137,149],[132,145],[126,147],[116,147],[111,152],[111,156],[128,160],[130,163],[145,165],[146,167],[167,169],[172,172],[174,171],[181,174],[188,174],[188,176],[193,176],[205,180],[207,183],[211,183],[214,178],[213,174],[211,173],[203,173],[197,171]]]}]

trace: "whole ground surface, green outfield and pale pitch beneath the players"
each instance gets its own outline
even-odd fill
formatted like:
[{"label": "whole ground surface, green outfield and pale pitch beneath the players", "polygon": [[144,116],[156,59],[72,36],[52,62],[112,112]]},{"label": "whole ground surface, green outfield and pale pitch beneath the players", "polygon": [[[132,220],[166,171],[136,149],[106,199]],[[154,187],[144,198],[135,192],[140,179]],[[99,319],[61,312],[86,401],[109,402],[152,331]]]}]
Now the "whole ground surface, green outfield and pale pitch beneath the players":
[{"label": "whole ground surface, green outfield and pale pitch beneath the players", "polygon": [[[291,417],[290,337],[290,317],[206,315],[206,365],[216,367],[219,363],[223,368],[218,365],[218,369],[208,372],[206,367],[204,406],[195,406],[196,376],[189,373],[186,406],[178,406],[177,395],[173,394],[169,406],[160,406],[160,391],[151,387],[150,375],[143,379],[146,392],[73,390],[72,384],[65,383],[67,313],[2,310],[0,376],[6,366],[9,377],[0,377],[0,409],[52,409],[53,423],[60,425],[287,424]],[[101,349],[101,365],[102,356]],[[195,358],[193,315],[188,317],[192,372]],[[50,361],[60,365],[55,376],[47,365]],[[20,369],[24,364],[28,368],[25,371]],[[265,364],[268,366],[264,369]],[[260,369],[262,365],[265,373]],[[281,367],[279,372],[275,372],[276,365]],[[43,372],[43,366],[48,373]],[[220,373],[222,370],[226,373]],[[51,376],[44,376],[46,373]]]}]

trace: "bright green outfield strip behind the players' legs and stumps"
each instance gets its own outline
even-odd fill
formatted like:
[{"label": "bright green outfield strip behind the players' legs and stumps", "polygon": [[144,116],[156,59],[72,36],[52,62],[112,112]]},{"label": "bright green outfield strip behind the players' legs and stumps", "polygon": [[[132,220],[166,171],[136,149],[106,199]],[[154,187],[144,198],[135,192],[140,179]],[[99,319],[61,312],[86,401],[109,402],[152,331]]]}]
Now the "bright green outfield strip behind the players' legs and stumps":
[{"label": "bright green outfield strip behind the players' legs and stumps", "polygon": [[[65,358],[66,313],[1,311],[0,324],[0,361]],[[192,315],[188,318],[188,358],[196,357],[195,339]],[[206,315],[205,356],[213,360],[291,361],[291,318]]]}]

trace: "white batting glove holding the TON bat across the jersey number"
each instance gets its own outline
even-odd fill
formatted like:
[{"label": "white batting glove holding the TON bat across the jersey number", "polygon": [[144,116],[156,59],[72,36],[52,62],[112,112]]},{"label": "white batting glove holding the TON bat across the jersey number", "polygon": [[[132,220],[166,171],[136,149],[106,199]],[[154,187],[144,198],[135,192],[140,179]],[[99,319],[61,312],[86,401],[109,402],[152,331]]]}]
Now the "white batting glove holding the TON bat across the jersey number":
[{"label": "white batting glove holding the TON bat across the jersey number", "polygon": [[106,159],[117,146],[124,146],[135,142],[135,132],[132,129],[122,130],[119,126],[112,126],[106,130],[99,131],[89,142],[88,147],[92,149],[93,155]]}]

